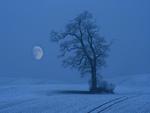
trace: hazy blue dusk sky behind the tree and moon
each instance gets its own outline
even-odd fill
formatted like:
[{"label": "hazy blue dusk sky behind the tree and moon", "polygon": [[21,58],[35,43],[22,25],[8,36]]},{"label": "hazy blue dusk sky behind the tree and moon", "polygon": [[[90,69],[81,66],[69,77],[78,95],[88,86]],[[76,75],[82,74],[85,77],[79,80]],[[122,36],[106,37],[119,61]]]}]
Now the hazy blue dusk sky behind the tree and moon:
[{"label": "hazy blue dusk sky behind the tree and moon", "polygon": [[[149,0],[1,0],[0,76],[78,81],[78,72],[61,66],[49,33],[85,10],[93,13],[102,36],[116,40],[103,76],[150,73],[149,6]],[[35,45],[44,49],[40,61],[32,54]]]}]

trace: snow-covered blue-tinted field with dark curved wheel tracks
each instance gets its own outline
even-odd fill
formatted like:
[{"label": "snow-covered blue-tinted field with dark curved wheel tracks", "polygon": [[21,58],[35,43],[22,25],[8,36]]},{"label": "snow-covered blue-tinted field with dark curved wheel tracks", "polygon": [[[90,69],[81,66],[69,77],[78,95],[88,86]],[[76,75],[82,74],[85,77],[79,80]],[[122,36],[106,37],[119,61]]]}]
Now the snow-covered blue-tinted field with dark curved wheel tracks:
[{"label": "snow-covered blue-tinted field with dark curved wheel tracks", "polygon": [[115,94],[90,94],[86,84],[1,78],[0,113],[150,113],[150,75],[110,81]]}]

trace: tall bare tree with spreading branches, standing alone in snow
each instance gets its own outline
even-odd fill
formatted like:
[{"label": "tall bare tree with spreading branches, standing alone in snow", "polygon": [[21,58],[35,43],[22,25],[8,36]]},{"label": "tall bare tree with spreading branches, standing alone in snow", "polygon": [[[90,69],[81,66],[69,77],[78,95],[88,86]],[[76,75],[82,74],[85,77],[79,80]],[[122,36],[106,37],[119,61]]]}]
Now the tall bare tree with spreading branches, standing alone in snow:
[{"label": "tall bare tree with spreading branches, standing alone in snow", "polygon": [[72,20],[64,32],[51,32],[51,39],[60,45],[63,64],[81,74],[91,74],[91,91],[97,90],[98,69],[105,65],[109,44],[99,35],[91,13],[85,11]]}]

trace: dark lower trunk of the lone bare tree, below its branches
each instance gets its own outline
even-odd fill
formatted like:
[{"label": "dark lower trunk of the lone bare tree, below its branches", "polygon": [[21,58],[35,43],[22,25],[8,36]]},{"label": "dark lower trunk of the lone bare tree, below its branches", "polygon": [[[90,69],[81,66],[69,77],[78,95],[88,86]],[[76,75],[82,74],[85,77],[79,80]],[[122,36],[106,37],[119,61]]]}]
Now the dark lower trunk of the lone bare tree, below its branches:
[{"label": "dark lower trunk of the lone bare tree, below its branches", "polygon": [[91,91],[97,90],[96,64],[91,66]]}]

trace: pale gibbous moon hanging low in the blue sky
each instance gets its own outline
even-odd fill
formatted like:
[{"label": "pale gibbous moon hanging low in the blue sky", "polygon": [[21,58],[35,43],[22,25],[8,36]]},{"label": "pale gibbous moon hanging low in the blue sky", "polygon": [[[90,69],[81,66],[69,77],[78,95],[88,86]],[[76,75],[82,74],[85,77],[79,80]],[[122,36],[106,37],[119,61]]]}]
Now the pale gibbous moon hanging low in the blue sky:
[{"label": "pale gibbous moon hanging low in the blue sky", "polygon": [[41,60],[44,55],[43,49],[40,46],[34,46],[33,55],[36,60]]}]

